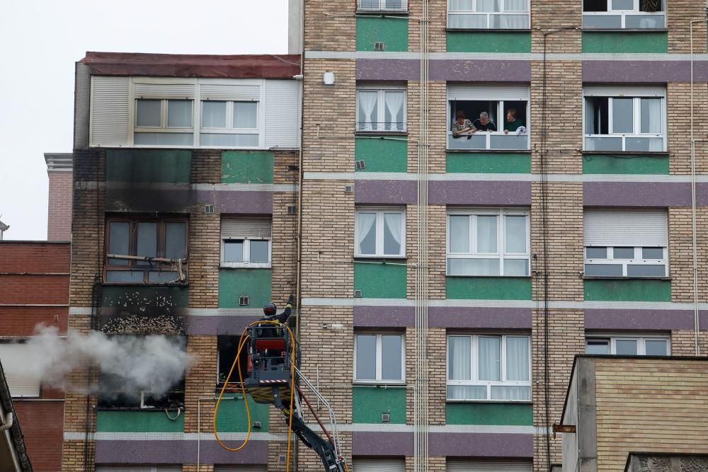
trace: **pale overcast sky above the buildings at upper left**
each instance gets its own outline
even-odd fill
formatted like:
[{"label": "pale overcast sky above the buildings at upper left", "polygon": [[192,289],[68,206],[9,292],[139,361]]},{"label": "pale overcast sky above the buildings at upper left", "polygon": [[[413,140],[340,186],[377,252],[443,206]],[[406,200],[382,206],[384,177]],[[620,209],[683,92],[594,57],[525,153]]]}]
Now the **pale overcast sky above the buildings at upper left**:
[{"label": "pale overcast sky above the buildings at upper left", "polygon": [[47,238],[45,152],[71,152],[86,51],[285,54],[287,0],[0,0],[0,220]]}]

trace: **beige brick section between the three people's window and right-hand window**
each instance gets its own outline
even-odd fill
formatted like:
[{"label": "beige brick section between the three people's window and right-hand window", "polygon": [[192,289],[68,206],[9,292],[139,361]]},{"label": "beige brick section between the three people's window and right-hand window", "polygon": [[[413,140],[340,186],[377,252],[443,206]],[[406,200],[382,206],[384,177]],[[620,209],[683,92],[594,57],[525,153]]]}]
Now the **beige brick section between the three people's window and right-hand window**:
[{"label": "beige brick section between the three people's window and right-hand window", "polygon": [[[537,4],[539,2],[535,2]],[[572,3],[572,2],[569,2]],[[579,5],[579,3],[578,3]],[[566,38],[564,38],[566,39]],[[532,171],[541,172],[543,62],[531,63]],[[583,69],[581,62],[546,64],[546,173],[583,173]]]}]

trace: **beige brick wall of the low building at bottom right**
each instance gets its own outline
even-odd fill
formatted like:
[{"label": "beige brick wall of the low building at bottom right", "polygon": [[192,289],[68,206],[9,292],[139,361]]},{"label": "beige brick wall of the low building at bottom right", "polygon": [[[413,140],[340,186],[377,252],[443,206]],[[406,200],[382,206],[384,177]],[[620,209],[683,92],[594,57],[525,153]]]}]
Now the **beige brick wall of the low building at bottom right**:
[{"label": "beige brick wall of the low building at bottom right", "polygon": [[704,360],[595,360],[598,471],[629,451],[708,453],[707,378]]}]

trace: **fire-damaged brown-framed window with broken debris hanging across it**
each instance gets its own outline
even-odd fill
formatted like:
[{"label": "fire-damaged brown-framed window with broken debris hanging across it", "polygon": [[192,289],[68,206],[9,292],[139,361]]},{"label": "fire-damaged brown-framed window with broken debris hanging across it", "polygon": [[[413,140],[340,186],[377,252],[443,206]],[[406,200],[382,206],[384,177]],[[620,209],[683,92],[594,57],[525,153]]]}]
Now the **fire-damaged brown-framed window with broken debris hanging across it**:
[{"label": "fire-damaged brown-framed window with broken debris hanging across it", "polygon": [[105,282],[186,282],[187,226],[187,219],[179,217],[108,219]]}]

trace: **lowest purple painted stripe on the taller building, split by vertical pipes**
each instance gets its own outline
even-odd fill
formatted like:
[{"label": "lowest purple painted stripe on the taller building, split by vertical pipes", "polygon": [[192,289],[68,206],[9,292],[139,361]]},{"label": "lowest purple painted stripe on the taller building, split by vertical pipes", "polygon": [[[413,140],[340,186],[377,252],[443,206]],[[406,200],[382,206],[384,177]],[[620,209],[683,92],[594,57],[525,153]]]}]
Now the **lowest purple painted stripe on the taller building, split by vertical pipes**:
[{"label": "lowest purple painted stripe on the taller building, split by vertical pipes", "polygon": [[[532,434],[445,433],[429,435],[430,456],[524,457],[533,455]],[[352,434],[353,456],[411,456],[412,432],[364,432]]]}]

